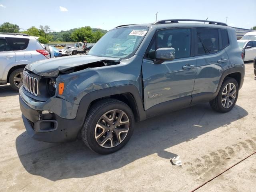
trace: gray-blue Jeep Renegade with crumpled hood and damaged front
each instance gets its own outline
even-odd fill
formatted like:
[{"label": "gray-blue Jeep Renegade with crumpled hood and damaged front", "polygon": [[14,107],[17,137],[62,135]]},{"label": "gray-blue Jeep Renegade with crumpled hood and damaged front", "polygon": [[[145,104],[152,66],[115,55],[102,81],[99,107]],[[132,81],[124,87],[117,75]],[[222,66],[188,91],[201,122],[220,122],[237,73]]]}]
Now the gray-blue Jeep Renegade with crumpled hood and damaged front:
[{"label": "gray-blue Jeep Renegade with crumpled hood and damaged front", "polygon": [[128,142],[134,122],[150,116],[199,102],[230,111],[244,81],[235,30],[179,21],[118,26],[87,55],[27,65],[20,109],[28,134],[46,142],[82,136],[109,154]]}]

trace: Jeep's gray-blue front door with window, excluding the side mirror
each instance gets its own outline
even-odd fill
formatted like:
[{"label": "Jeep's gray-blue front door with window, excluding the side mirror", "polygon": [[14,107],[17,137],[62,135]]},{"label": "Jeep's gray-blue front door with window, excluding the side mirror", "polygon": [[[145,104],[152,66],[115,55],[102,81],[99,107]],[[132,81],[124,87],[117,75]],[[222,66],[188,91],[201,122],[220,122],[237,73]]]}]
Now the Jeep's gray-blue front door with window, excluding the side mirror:
[{"label": "Jeep's gray-blue front door with window, excluding the side mirror", "polygon": [[[144,107],[162,108],[171,104],[189,106],[196,76],[196,58],[191,54],[190,28],[159,30],[142,63]],[[154,64],[155,50],[174,48],[174,60]]]}]

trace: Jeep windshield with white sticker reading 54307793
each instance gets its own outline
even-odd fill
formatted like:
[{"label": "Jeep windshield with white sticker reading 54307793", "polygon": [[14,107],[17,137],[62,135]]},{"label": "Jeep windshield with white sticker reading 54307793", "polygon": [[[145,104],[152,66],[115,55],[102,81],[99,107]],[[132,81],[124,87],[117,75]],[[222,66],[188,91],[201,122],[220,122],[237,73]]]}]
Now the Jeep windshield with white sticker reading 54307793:
[{"label": "Jeep windshield with white sticker reading 54307793", "polygon": [[128,58],[137,50],[147,32],[146,27],[110,30],[91,48],[88,55]]}]

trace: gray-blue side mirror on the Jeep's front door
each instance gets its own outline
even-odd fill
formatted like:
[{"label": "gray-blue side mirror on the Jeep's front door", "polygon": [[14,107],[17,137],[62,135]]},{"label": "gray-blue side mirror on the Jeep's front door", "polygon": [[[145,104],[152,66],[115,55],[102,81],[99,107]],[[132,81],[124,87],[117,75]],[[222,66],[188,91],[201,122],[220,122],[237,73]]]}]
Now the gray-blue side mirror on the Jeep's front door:
[{"label": "gray-blue side mirror on the Jeep's front door", "polygon": [[156,61],[158,61],[158,63],[162,63],[164,60],[174,60],[174,59],[175,59],[174,48],[159,48],[156,50]]}]

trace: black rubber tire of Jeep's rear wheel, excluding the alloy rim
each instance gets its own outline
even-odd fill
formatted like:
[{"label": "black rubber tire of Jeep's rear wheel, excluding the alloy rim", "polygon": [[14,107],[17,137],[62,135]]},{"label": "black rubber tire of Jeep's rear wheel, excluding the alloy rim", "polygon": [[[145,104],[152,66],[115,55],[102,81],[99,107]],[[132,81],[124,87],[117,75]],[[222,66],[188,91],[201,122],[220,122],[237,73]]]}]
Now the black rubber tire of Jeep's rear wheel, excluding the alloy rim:
[{"label": "black rubber tire of Jeep's rear wheel, excluding the alloy rim", "polygon": [[[233,83],[236,86],[236,98],[234,99],[234,102],[230,107],[224,108],[224,106],[222,105],[222,92],[224,91],[224,88],[229,83]],[[225,78],[224,82],[222,83],[222,86],[220,87],[220,91],[219,91],[218,95],[216,96],[216,98],[214,98],[213,100],[210,101],[210,106],[212,107],[213,110],[215,110],[217,112],[221,112],[221,113],[229,112],[230,110],[232,110],[232,108],[236,104],[236,100],[238,98],[238,92],[239,92],[239,86],[238,86],[237,81],[231,77]]]}]

